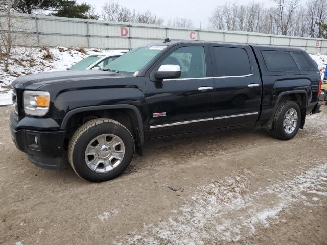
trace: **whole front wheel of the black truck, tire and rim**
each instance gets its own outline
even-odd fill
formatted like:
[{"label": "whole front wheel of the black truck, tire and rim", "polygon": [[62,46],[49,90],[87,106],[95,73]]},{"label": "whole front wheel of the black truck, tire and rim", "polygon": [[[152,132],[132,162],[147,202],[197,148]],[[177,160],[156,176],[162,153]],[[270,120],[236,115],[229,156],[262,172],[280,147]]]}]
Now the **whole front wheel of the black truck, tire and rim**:
[{"label": "whole front wheel of the black truck, tire and rim", "polygon": [[84,180],[111,180],[129,166],[134,156],[134,140],[118,121],[95,119],[86,122],[73,135],[68,158],[75,173]]}]

